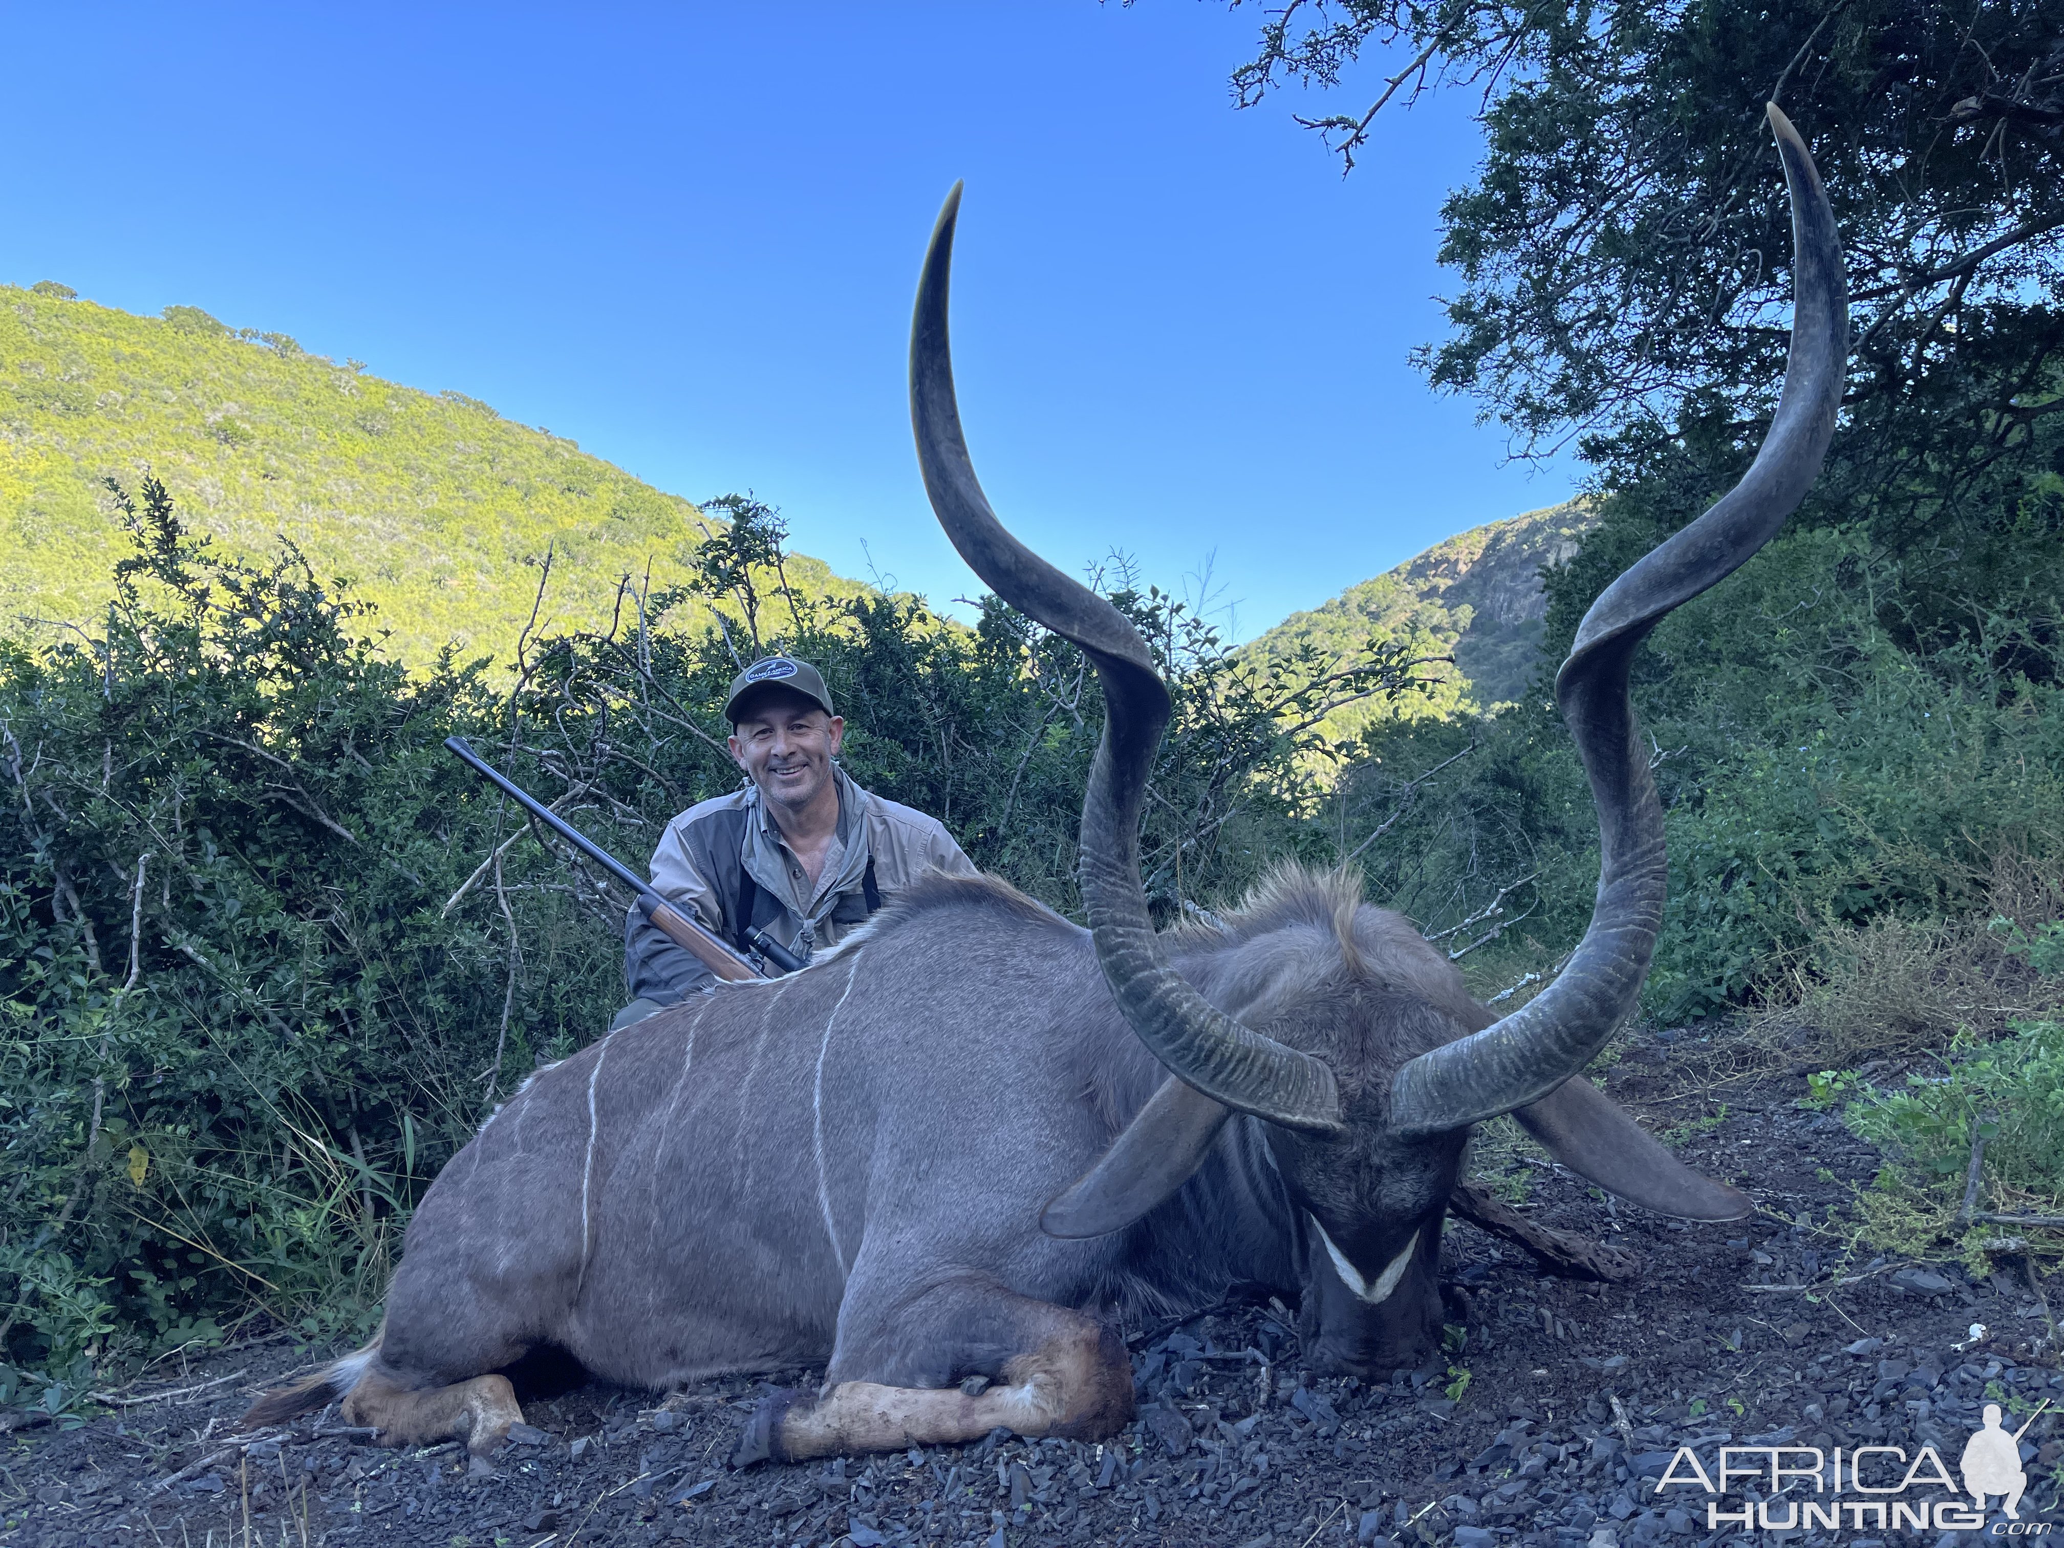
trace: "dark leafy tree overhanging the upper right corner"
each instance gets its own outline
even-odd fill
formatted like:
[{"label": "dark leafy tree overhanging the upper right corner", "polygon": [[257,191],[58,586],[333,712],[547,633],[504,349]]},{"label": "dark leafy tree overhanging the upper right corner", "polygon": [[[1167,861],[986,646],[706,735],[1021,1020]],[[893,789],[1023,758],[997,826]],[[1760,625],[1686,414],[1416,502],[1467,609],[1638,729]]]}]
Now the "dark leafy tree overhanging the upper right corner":
[{"label": "dark leafy tree overhanging the upper right corner", "polygon": [[1292,0],[1234,87],[1337,85],[1377,47],[1408,62],[1373,105],[1307,120],[1348,167],[1391,101],[1484,101],[1484,169],[1443,213],[1453,332],[1420,363],[1521,456],[1575,438],[1600,489],[1633,495],[1565,576],[1552,640],[1736,477],[1773,409],[1789,229],[1765,101],[1814,149],[1853,297],[1847,413],[1802,522],[1909,559],[1915,638],[1953,627],[1942,594],[2054,611],[2060,0]]}]

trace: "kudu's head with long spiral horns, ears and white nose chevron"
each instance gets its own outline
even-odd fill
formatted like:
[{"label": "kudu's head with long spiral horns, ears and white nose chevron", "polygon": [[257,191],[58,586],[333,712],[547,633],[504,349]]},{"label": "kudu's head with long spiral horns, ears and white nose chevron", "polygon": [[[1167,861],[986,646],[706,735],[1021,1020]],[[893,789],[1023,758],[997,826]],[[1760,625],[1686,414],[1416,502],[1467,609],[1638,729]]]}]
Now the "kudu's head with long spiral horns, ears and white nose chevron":
[{"label": "kudu's head with long spiral horns, ears and white nose chevron", "polygon": [[[1082,894],[1119,1009],[1170,1077],[1040,1224],[1096,1236],[1139,1220],[1201,1164],[1230,1112],[1265,1125],[1309,1240],[1307,1327],[1321,1364],[1387,1377],[1439,1337],[1439,1226],[1470,1125],[1513,1112],[1583,1176],[1695,1220],[1744,1195],[1678,1164],[1583,1079],[1635,1007],[1662,923],[1664,815],[1633,722],[1628,669],[1649,630],[1756,553],[1820,469],[1847,369],[1847,285],[1820,178],[1769,109],[1792,194],[1794,330],[1783,394],[1742,481],[1591,605],[1556,698],[1602,830],[1591,925],[1521,1009],[1457,1036],[1455,1015],[1381,980],[1331,982],[1265,1026],[1214,1009],[1166,962],[1139,885],[1139,809],[1170,702],[1139,634],[995,518],[974,477],[947,347],[956,188],[939,215],[910,341],[910,413],[925,489],[960,555],[1011,607],[1073,640],[1104,689],[1104,739],[1082,811]],[[1381,1028],[1381,1030],[1379,1030]]]}]

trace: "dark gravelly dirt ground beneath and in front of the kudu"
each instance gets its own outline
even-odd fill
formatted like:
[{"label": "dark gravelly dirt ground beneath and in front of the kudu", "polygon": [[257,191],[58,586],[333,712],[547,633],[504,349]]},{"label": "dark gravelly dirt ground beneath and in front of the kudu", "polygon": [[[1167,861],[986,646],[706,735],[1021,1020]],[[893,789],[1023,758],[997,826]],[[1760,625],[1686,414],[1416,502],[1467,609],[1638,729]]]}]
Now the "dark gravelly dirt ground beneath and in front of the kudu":
[{"label": "dark gravelly dirt ground beneath and in front of the kudu", "polygon": [[[1662,1034],[1631,1049],[1610,1090],[1680,1139],[1686,1160],[1748,1189],[1759,1214],[1666,1222],[1519,1156],[1507,1189],[1525,1179],[1531,1218],[1624,1245],[1645,1271],[1614,1286],[1548,1280],[1517,1249],[1451,1224],[1445,1269],[1468,1333],[1451,1333],[1451,1373],[1426,1385],[1309,1377],[1288,1309],[1228,1307],[1133,1331],[1139,1420],[1106,1445],[999,1432],[733,1474],[722,1459],[753,1383],[665,1404],[578,1387],[528,1397],[535,1428],[473,1476],[454,1445],[380,1451],[330,1414],[233,1441],[258,1387],[324,1354],[260,1344],[161,1368],[78,1428],[12,1428],[0,1441],[0,1544],[1955,1548],[2008,1540],[2000,1498],[1984,1529],[1915,1531],[1911,1517],[1880,1525],[1851,1488],[1845,1498],[1866,1503],[1856,1525],[1748,1531],[1709,1529],[1707,1505],[1750,1509],[1769,1492],[1754,1480],[1736,1478],[1728,1496],[1657,1482],[1684,1478],[1672,1465],[1680,1445],[1709,1472],[1723,1445],[1899,1447],[1915,1461],[1932,1445],[1955,1472],[1988,1401],[2008,1430],[2035,1412],[2019,1447],[2021,1523],[2064,1519],[2052,1476],[2064,1439],[2043,1408],[2064,1401],[2064,1375],[2029,1280],[1973,1284],[1953,1263],[1845,1257],[1851,1187],[1876,1156],[1798,1106],[1800,1075],[1715,1088],[1713,1069],[1709,1046]],[[1874,1463],[1897,1480],[1889,1453]],[[1950,1488],[1913,1484],[1895,1498]],[[1775,1527],[1800,1498],[1814,1498],[1812,1480],[1771,1501]]]}]

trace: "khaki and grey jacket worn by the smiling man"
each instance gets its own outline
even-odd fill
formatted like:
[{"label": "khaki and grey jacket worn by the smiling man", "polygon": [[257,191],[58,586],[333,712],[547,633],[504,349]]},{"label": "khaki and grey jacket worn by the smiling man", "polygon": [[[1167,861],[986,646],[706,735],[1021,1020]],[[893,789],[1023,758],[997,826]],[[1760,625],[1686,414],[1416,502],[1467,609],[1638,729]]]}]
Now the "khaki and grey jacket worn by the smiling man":
[{"label": "khaki and grey jacket worn by the smiling man", "polygon": [[[727,945],[749,952],[747,929],[762,929],[799,958],[838,945],[867,921],[869,877],[879,900],[894,898],[927,871],[976,875],[974,863],[937,817],[863,791],[838,766],[838,834],[817,885],[797,861],[760,786],[689,807],[652,850],[652,888]],[[751,885],[745,885],[745,879]],[[739,918],[739,904],[751,918]],[[708,989],[714,974],[689,952],[630,910],[623,927],[623,976],[632,999],[673,1005]]]}]

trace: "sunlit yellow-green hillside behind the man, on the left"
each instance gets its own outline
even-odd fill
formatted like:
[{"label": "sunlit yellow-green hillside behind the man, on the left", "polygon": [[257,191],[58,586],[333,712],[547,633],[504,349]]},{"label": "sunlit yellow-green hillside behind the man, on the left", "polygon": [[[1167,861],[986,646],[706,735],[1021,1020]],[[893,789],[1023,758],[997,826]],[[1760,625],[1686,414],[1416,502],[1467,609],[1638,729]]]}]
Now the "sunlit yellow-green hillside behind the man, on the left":
[{"label": "sunlit yellow-green hillside behind the man, on the left", "polygon": [[[458,392],[198,308],[138,318],[47,281],[0,287],[0,632],[107,601],[126,539],[101,479],[144,471],[231,553],[285,535],[320,578],[355,580],[417,663],[448,640],[508,658],[547,545],[547,615],[568,627],[607,623],[623,574],[675,580],[700,543],[689,502]],[[807,557],[791,580],[863,590]]]}]

